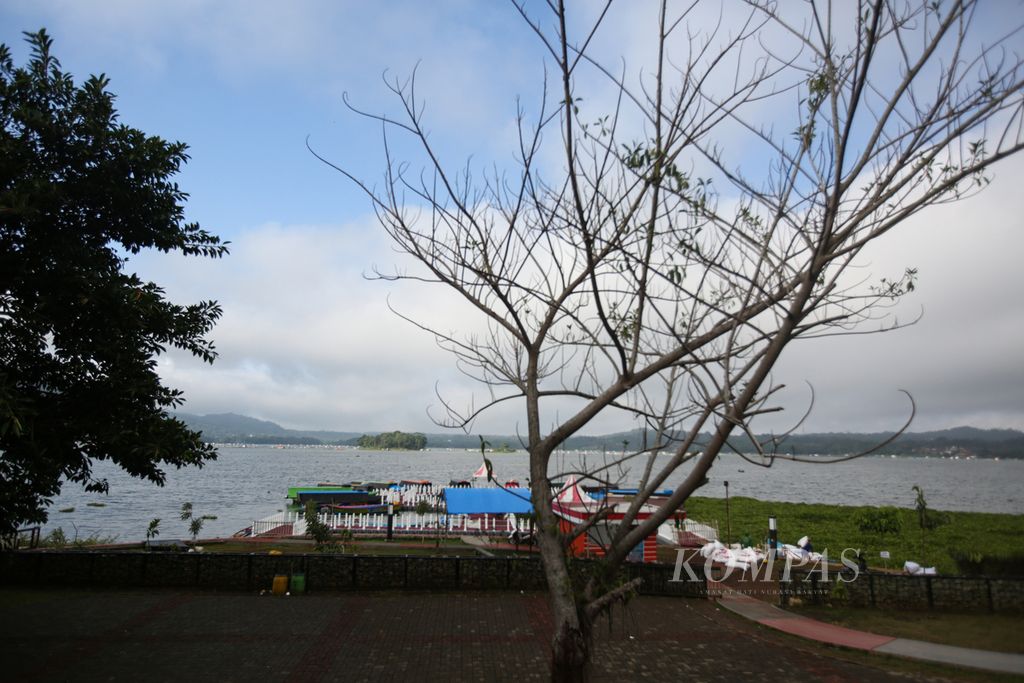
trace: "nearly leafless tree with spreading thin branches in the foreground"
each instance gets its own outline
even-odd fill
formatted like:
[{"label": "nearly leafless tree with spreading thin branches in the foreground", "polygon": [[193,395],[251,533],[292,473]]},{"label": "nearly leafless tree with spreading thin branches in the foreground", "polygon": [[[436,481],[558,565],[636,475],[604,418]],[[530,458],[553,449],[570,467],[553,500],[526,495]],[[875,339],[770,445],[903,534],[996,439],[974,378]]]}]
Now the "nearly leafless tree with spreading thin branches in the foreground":
[{"label": "nearly leafless tree with spreading thin branches in the foreground", "polygon": [[[544,100],[518,111],[512,168],[450,171],[415,78],[388,82],[401,116],[353,108],[382,124],[382,188],[335,168],[424,266],[378,274],[452,288],[487,323],[487,334],[461,337],[413,321],[488,388],[482,407],[445,403],[446,424],[467,427],[509,400],[524,409],[553,677],[579,679],[595,618],[636,588],[616,580],[630,550],[701,485],[730,439],[757,443],[754,421],[780,410],[771,371],[790,343],[899,327],[887,311],[916,273],[855,278],[862,250],[976,193],[1021,150],[1021,60],[1009,49],[1021,29],[982,42],[971,0],[750,0],[712,8],[710,23],[702,4],[663,2],[653,62],[634,78],[635,66],[591,54],[597,33],[612,30],[602,26],[610,0],[578,32],[562,0],[542,16],[513,4],[551,67]],[[595,112],[581,84],[597,78],[614,97]],[[419,144],[425,171],[392,157],[396,134]],[[541,161],[545,145],[557,145],[558,165]],[[632,467],[640,495],[617,510],[605,561],[574,578],[568,544],[611,508],[566,531],[553,454],[606,411],[642,419],[656,442],[581,468],[606,481]],[[753,459],[769,465],[779,440],[757,443]],[[650,506],[684,463],[682,484]]]}]

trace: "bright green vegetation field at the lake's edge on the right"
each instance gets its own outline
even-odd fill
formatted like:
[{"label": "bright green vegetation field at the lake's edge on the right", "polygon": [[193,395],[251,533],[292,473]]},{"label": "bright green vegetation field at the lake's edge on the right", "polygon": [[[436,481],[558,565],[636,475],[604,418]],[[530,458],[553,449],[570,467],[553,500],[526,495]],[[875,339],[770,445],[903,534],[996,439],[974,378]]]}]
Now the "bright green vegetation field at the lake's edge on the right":
[{"label": "bright green vegetation field at the lake's edge on the right", "polygon": [[[1024,554],[1024,515],[1004,515],[982,512],[944,512],[947,523],[932,530],[918,524],[918,513],[899,509],[902,529],[896,533],[861,531],[858,514],[866,507],[841,507],[808,503],[774,503],[752,498],[732,498],[726,516],[725,500],[691,498],[686,503],[690,519],[717,521],[720,536],[725,539],[731,528],[732,543],[749,536],[762,543],[768,533],[768,517],[778,520],[778,539],[796,543],[809,536],[817,552],[827,550],[829,559],[838,561],[845,548],[864,552],[872,567],[902,568],[905,560],[925,566],[935,566],[940,573],[958,573],[950,552],[959,551],[987,555]],[[727,523],[728,519],[728,523]],[[883,561],[879,553],[889,551],[891,558]]]}]

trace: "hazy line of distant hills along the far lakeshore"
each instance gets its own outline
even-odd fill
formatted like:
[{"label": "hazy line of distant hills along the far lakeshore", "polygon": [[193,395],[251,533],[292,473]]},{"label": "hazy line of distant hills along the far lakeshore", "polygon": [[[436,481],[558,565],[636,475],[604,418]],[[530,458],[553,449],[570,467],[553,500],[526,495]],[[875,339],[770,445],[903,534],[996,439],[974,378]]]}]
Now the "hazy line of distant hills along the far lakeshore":
[{"label": "hazy line of distant hills along the far lakeshore", "polygon": [[[294,443],[294,444],[338,444],[355,445],[365,434],[380,432],[340,432],[325,430],[286,429],[266,420],[257,420],[244,415],[224,413],[220,415],[177,414],[191,429],[203,432],[207,441],[219,443]],[[786,455],[848,455],[867,451],[892,436],[889,433],[822,433],[795,434],[785,439],[777,451]],[[480,436],[456,432],[427,434],[427,447],[431,449],[478,449]],[[494,449],[508,446],[521,450],[519,437],[515,435],[485,434]],[[694,450],[699,450],[710,434],[697,439]],[[768,435],[759,435],[759,440],[768,441]],[[613,454],[624,449],[628,442],[630,450],[644,443],[643,432],[634,430],[599,436],[572,436],[565,441],[568,451],[606,451]],[[648,433],[647,443],[654,442],[653,433]],[[750,439],[738,437],[732,445],[743,453],[753,453],[755,447]],[[877,451],[885,455],[916,456],[961,456],[978,458],[1024,458],[1024,432],[1016,429],[978,429],[976,427],[954,427],[931,432],[910,432],[902,434],[892,443]]]}]

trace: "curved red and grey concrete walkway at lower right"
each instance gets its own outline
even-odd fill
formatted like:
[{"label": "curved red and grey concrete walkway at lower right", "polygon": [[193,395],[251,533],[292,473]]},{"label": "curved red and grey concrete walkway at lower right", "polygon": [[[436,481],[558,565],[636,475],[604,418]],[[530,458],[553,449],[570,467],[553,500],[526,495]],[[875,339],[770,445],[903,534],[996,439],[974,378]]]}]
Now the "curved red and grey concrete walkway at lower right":
[{"label": "curved red and grey concrete walkway at lower right", "polygon": [[736,591],[727,591],[719,598],[719,605],[749,620],[776,631],[801,638],[816,640],[829,645],[849,647],[868,652],[896,654],[925,661],[984,669],[1008,674],[1024,674],[1024,654],[976,650],[953,645],[940,645],[907,638],[879,636],[854,631],[834,624],[801,616],[780,609]]}]

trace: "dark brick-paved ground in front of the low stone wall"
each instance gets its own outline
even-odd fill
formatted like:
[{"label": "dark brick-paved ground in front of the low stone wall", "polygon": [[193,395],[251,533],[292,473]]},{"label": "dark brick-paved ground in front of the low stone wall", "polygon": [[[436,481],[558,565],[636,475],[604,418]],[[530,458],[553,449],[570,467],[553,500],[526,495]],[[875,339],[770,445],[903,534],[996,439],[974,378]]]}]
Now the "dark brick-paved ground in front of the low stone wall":
[{"label": "dark brick-paved ground in front of the low stone wall", "polygon": [[[550,629],[540,593],[2,589],[0,680],[546,680]],[[616,607],[596,649],[595,680],[616,683],[906,680],[780,645],[693,599]]]}]

